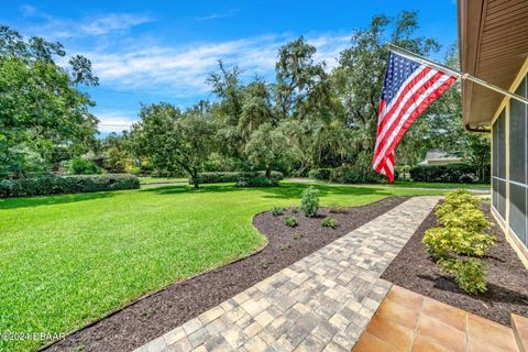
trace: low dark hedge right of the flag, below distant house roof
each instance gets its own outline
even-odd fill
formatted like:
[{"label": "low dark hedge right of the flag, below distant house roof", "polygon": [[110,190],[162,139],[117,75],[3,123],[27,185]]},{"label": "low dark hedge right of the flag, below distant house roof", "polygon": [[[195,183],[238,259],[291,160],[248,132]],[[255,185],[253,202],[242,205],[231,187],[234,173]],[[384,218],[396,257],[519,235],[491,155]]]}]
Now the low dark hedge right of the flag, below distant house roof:
[{"label": "low dark hedge right of the flag, below distant house roof", "polygon": [[[414,182],[426,183],[474,183],[486,182],[477,179],[479,168],[470,164],[450,165],[419,165],[410,170],[410,178]],[[486,173],[488,174],[488,173]]]}]

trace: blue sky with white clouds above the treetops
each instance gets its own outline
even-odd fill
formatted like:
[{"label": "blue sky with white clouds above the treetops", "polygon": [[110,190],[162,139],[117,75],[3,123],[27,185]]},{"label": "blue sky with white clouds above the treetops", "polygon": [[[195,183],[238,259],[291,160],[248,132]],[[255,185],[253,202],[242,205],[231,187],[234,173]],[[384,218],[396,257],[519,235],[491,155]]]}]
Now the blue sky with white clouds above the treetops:
[{"label": "blue sky with white clouds above the treetops", "polygon": [[0,24],[91,59],[100,86],[88,91],[105,135],[138,120],[140,102],[185,108],[212,98],[205,79],[218,59],[239,65],[246,79],[273,79],[277,48],[299,35],[330,69],[354,29],[402,10],[419,11],[419,34],[457,41],[453,0],[6,1]]}]

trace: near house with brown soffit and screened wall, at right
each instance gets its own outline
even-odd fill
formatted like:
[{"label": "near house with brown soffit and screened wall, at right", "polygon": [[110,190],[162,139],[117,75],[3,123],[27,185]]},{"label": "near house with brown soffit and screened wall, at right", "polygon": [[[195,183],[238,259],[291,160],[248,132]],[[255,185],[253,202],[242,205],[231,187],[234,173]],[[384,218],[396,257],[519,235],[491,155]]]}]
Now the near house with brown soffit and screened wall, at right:
[{"label": "near house with brown soffit and screened wall, at right", "polygon": [[[462,72],[528,97],[527,0],[459,0]],[[468,129],[492,129],[492,212],[528,263],[528,106],[464,80]]]}]

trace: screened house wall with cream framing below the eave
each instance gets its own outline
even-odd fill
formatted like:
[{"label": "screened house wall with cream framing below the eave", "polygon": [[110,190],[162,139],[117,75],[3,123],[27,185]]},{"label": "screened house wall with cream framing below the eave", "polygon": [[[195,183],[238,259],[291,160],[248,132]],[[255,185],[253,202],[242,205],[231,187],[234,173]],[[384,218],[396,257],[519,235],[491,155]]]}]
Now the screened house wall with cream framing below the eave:
[{"label": "screened house wall with cream framing below the eave", "polygon": [[[510,91],[528,97],[528,59]],[[528,267],[528,106],[509,98],[492,121],[492,212]]]}]

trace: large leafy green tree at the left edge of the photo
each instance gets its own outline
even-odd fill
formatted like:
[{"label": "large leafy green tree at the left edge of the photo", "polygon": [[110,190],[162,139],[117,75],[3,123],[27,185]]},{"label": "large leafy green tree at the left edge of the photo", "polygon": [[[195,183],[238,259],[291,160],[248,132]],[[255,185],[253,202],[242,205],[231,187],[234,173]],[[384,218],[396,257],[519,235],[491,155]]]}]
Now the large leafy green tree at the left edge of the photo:
[{"label": "large leafy green tree at the left edge of the photo", "polygon": [[[0,175],[19,177],[57,169],[61,162],[86,153],[95,141],[94,101],[77,84],[97,85],[91,64],[82,56],[75,82],[54,62],[63,45],[0,26]],[[80,64],[79,64],[80,65]],[[82,67],[82,68],[80,68]],[[75,69],[75,67],[74,67]]]}]

